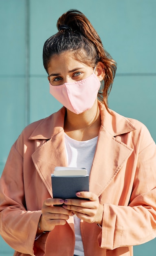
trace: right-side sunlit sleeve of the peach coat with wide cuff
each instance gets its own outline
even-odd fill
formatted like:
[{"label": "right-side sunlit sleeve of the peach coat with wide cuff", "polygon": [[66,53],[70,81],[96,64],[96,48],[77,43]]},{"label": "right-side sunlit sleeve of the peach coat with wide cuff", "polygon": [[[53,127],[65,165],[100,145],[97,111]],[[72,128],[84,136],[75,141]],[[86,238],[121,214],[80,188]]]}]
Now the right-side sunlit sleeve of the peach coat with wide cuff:
[{"label": "right-side sunlit sleeve of the peach coat with wide cuff", "polygon": [[140,245],[156,237],[156,145],[147,128],[139,136],[129,204],[104,204],[103,225],[98,236],[102,248]]}]

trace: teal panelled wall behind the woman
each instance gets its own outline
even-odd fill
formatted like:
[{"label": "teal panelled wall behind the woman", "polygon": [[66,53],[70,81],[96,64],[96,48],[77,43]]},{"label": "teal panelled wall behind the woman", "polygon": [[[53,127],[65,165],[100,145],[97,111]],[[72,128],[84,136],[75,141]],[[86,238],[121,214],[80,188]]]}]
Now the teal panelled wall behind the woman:
[{"label": "teal panelled wall behind the woman", "polygon": [[[49,94],[42,48],[68,9],[88,17],[118,63],[110,108],[142,121],[156,141],[155,0],[0,0],[0,174],[22,129],[61,106]],[[1,238],[4,255],[13,250]],[[156,239],[134,247],[134,256],[149,255]]]}]

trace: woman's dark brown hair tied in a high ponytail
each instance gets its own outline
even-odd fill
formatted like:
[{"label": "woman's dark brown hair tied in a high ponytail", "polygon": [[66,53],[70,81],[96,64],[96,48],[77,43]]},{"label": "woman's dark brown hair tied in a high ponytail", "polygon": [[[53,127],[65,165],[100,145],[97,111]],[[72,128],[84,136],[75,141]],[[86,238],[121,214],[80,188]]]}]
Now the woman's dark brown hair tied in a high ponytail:
[{"label": "woman's dark brown hair tied in a high ponytail", "polygon": [[71,51],[77,61],[90,67],[95,67],[101,61],[105,68],[105,76],[101,82],[98,99],[108,110],[108,95],[116,72],[116,62],[103,48],[97,31],[83,13],[74,9],[67,11],[58,19],[57,29],[57,34],[44,43],[43,64],[46,72],[52,56],[65,51]]}]

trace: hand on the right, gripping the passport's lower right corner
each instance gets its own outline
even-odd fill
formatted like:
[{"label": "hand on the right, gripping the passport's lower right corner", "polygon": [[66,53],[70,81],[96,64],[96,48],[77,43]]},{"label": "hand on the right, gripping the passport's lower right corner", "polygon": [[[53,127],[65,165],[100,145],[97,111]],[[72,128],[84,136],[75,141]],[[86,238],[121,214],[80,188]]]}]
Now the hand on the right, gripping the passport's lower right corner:
[{"label": "hand on the right, gripping the passport's lower right corner", "polygon": [[81,199],[66,199],[63,207],[73,211],[78,218],[88,223],[98,223],[102,225],[103,205],[99,203],[99,198],[92,192],[77,192],[77,197],[87,198]]}]

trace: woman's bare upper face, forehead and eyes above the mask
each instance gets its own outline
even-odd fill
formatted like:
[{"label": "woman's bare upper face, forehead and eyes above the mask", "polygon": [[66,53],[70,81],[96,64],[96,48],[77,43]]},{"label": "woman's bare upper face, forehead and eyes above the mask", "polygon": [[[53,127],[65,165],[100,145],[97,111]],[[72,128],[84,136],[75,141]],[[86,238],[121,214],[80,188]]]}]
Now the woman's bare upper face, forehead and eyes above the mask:
[{"label": "woman's bare upper face, forehead and eyes above the mask", "polygon": [[75,60],[71,52],[54,55],[48,66],[48,80],[51,85],[80,81],[92,73],[93,68]]}]

